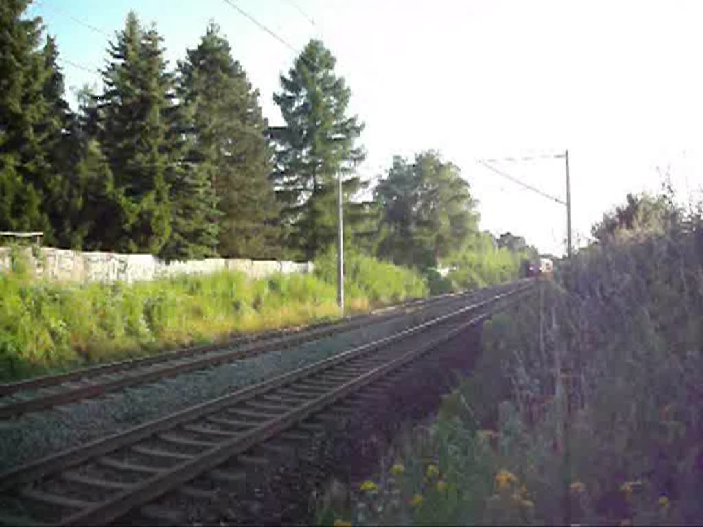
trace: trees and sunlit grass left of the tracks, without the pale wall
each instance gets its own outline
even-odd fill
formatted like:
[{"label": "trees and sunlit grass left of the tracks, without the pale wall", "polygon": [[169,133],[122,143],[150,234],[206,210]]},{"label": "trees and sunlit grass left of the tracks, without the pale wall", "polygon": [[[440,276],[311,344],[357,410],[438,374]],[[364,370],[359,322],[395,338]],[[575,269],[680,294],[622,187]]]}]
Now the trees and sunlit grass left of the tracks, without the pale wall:
[{"label": "trees and sunlit grass left of the tracks, without the pale wall", "polygon": [[280,77],[285,126],[272,128],[217,25],[172,70],[157,27],[129,13],[108,42],[101,87],[84,87],[72,111],[58,49],[40,18],[25,18],[29,4],[0,4],[0,230],[42,230],[46,245],[72,249],[319,265],[314,277],[259,282],[60,286],[0,275],[9,375],[22,363],[90,362],[332,315],[337,178],[350,308],[509,280],[536,255],[479,231],[468,184],[439,152],[396,158],[361,200],[363,123],[321,41]]}]

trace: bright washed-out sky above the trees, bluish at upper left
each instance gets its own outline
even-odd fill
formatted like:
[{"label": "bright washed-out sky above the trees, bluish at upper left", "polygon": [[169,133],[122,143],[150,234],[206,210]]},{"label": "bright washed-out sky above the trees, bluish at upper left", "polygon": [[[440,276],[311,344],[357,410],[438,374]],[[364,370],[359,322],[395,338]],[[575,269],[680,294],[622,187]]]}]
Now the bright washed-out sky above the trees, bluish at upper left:
[{"label": "bright washed-out sky above the trees, bluish at upper left", "polygon": [[[378,174],[396,154],[441,150],[471,183],[482,227],[496,234],[510,230],[561,254],[565,209],[478,157],[568,148],[575,238],[628,191],[657,190],[657,167],[669,167],[682,199],[703,186],[701,1],[232,1],[297,49],[321,37],[333,51],[366,122],[363,174]],[[295,53],[222,0],[43,0],[32,13],[64,58],[101,67],[106,37],[69,15],[112,34],[130,8],[157,23],[171,65],[216,20],[264,114],[280,124],[271,94]],[[64,71],[68,87],[96,80]],[[565,197],[563,160],[499,168]]]}]

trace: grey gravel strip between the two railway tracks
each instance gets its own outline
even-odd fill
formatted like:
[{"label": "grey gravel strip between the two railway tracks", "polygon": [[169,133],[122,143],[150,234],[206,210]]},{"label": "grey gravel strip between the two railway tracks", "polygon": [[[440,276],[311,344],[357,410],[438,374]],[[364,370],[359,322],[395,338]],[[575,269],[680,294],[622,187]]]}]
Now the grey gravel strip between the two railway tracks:
[{"label": "grey gravel strip between the two railway tracks", "polygon": [[52,410],[0,422],[0,470],[37,460],[137,424],[223,396],[234,389],[309,365],[416,324],[437,312],[428,308],[396,320],[236,362],[170,377]]}]

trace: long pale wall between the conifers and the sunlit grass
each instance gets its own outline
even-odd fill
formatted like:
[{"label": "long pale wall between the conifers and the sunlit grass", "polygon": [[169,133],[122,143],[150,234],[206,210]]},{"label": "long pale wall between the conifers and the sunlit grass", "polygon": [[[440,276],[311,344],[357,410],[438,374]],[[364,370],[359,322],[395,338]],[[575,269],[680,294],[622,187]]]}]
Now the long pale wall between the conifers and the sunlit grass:
[{"label": "long pale wall between the conifers and the sunlit grass", "polygon": [[[162,261],[151,254],[79,252],[41,247],[39,258],[30,249],[22,251],[37,277],[70,282],[137,282],[175,275],[207,275],[217,271],[240,271],[252,278],[274,273],[311,273],[311,262],[208,258],[191,261]],[[10,249],[0,247],[0,273],[11,266]]]}]

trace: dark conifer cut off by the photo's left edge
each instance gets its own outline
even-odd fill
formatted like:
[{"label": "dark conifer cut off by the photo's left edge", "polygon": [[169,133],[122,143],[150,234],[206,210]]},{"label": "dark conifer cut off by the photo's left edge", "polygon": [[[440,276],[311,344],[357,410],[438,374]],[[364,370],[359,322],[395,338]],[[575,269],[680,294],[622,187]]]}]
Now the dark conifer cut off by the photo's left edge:
[{"label": "dark conifer cut off by the photo's left edge", "polygon": [[54,242],[70,112],[56,45],[39,48],[41,19],[22,18],[28,4],[0,4],[0,229],[44,230]]}]

